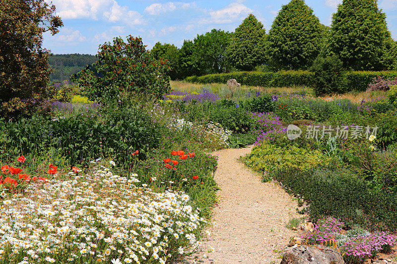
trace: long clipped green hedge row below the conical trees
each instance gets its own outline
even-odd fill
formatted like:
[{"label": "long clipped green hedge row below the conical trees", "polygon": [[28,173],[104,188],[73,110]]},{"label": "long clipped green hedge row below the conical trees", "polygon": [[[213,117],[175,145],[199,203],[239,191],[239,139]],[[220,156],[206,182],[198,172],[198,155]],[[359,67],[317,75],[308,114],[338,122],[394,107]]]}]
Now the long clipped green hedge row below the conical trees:
[{"label": "long clipped green hedge row below the conical trees", "polygon": [[[344,90],[363,92],[374,77],[397,78],[397,71],[352,71],[346,73]],[[236,79],[242,85],[263,87],[313,87],[313,73],[309,71],[279,71],[256,72],[236,71],[231,73],[208,74],[191,76],[185,80],[192,83],[226,83],[229,79]]]}]

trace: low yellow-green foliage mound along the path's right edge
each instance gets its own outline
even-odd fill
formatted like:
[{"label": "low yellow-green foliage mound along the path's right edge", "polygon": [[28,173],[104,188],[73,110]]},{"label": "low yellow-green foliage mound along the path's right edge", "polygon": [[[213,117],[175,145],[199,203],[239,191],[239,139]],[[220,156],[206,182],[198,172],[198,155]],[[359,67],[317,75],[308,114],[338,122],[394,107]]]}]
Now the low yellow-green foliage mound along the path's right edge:
[{"label": "low yellow-green foliage mound along the path's right edge", "polygon": [[318,164],[328,164],[322,152],[310,151],[296,146],[280,147],[275,144],[262,144],[245,158],[245,164],[254,170],[271,172],[275,169],[295,167],[308,169]]}]

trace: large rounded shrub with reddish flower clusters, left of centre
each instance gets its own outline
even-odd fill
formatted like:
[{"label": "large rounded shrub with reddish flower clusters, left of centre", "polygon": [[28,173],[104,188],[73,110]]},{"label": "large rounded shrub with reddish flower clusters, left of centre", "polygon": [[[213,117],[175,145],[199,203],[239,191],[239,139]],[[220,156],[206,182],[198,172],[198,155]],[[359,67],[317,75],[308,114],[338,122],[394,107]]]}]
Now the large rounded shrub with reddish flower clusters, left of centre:
[{"label": "large rounded shrub with reddish flower clusters, left of centre", "polygon": [[99,47],[94,64],[98,76],[87,67],[73,80],[91,101],[117,103],[134,95],[159,98],[171,89],[168,63],[155,59],[145,49],[141,38],[131,35],[127,43],[114,38]]}]

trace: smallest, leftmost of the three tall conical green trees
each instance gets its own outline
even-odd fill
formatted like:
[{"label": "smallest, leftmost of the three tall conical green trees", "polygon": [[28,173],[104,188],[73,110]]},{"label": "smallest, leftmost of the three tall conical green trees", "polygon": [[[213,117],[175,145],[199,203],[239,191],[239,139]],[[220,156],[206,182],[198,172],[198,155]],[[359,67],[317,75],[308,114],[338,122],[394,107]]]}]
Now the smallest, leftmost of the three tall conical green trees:
[{"label": "smallest, leftmost of the three tall conical green trees", "polygon": [[253,70],[264,61],[266,31],[263,24],[250,14],[236,28],[228,48],[232,65],[239,70]]}]

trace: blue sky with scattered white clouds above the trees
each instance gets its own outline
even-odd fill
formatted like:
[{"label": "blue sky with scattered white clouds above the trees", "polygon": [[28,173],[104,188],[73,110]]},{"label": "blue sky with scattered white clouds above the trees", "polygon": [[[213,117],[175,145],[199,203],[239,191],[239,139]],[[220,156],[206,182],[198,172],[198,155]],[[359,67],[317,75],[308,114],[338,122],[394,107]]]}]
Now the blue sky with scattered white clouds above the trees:
[{"label": "blue sky with scattered white clouds above the trees", "polygon": [[[51,0],[46,0],[51,2]],[[54,54],[96,54],[98,46],[114,37],[140,36],[148,49],[156,42],[181,47],[185,39],[211,29],[232,32],[253,13],[269,31],[274,17],[289,0],[53,0],[63,22],[60,32],[44,35],[43,48]],[[331,25],[342,0],[306,0],[320,22]],[[397,0],[379,0],[389,30],[397,39]]]}]

